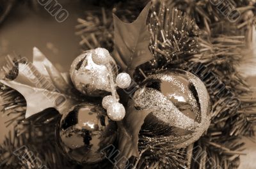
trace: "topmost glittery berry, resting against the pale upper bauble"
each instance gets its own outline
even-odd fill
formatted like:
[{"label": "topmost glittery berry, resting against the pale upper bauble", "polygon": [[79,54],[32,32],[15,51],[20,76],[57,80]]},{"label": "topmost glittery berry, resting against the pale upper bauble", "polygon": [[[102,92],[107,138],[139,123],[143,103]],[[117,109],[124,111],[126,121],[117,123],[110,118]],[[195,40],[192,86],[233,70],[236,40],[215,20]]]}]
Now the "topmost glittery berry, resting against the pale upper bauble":
[{"label": "topmost glittery berry, resting against the pale upper bauble", "polygon": [[106,48],[96,48],[92,53],[92,61],[98,65],[104,65],[109,62],[109,52]]}]

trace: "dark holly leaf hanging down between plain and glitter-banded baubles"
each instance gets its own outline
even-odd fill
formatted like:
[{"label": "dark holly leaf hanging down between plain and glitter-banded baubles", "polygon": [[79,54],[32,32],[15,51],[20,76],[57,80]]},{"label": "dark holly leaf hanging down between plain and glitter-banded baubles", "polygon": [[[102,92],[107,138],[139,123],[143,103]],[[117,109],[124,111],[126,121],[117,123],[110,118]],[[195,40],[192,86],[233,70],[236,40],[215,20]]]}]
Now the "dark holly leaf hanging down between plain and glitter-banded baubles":
[{"label": "dark holly leaf hanging down between plain and glitter-banded baubles", "polygon": [[128,103],[127,113],[124,119],[118,122],[118,168],[125,168],[125,163],[131,156],[139,158],[138,136],[145,118],[154,110],[137,110],[134,101]]}]

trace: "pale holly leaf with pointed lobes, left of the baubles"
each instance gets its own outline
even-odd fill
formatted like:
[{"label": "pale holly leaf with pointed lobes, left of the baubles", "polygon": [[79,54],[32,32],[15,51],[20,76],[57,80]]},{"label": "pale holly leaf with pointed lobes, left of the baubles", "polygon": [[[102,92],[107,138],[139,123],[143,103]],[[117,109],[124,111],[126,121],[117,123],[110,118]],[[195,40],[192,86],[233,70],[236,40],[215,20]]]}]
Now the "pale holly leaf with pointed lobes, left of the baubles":
[{"label": "pale holly leaf with pointed lobes, left of the baubles", "polygon": [[74,95],[72,85],[63,75],[38,48],[33,48],[33,63],[19,63],[15,80],[0,82],[24,96],[27,103],[25,116],[28,118],[51,107],[63,114],[72,105],[83,101],[79,95]]}]

